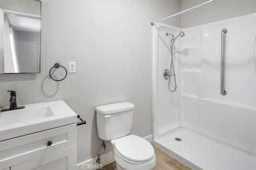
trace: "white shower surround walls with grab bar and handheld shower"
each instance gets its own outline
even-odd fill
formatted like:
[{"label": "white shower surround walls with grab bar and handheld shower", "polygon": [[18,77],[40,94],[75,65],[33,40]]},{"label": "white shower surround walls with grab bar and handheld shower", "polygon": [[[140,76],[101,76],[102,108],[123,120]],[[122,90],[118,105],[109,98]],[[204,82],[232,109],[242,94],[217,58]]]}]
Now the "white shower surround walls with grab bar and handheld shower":
[{"label": "white shower surround walls with grab bar and handheld shower", "polygon": [[[220,94],[220,43],[223,28],[228,29],[227,96]],[[168,91],[168,81],[162,76],[164,69],[170,69],[170,39],[165,33],[171,32],[177,35],[180,31],[184,31],[185,37],[179,38],[174,44],[177,49],[174,50],[174,63],[178,88],[176,93],[172,93]],[[223,146],[233,147],[238,152],[239,150],[246,152],[256,161],[255,41],[256,13],[185,29],[156,23],[153,41],[155,143],[165,136],[167,139],[173,130],[182,127],[225,144]],[[173,98],[177,99],[176,106],[171,100]],[[216,146],[212,145],[209,148],[222,148]],[[163,147],[168,149],[168,146]],[[190,151],[193,152],[192,150],[186,152]],[[232,157],[232,154],[229,156]],[[222,167],[227,169],[228,166],[224,164],[225,162]],[[256,168],[256,163],[251,165],[249,169]],[[207,168],[198,164],[196,166]]]}]

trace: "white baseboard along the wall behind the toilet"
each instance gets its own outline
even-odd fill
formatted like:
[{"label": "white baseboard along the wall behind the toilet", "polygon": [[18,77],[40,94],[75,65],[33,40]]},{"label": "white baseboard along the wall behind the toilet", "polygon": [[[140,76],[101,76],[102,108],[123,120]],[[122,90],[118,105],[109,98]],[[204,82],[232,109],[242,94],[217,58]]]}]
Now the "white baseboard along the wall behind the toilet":
[{"label": "white baseboard along the wall behind the toilet", "polygon": [[[144,137],[144,139],[146,139],[146,141],[148,141],[149,143],[152,144],[152,135],[148,135],[146,137]],[[98,165],[98,163],[96,162],[96,160],[98,159],[98,157],[86,160],[80,164],[77,164],[77,170],[85,170],[85,169],[90,169],[90,170],[96,170],[100,168],[100,165]],[[100,155],[100,164],[102,164],[102,166],[106,166],[108,164],[111,164],[112,162],[115,162],[114,156],[113,156],[113,151],[104,153],[102,155]],[[88,167],[88,165],[92,165],[92,167]],[[97,167],[98,165],[98,167]],[[83,168],[84,166],[84,168]]]}]

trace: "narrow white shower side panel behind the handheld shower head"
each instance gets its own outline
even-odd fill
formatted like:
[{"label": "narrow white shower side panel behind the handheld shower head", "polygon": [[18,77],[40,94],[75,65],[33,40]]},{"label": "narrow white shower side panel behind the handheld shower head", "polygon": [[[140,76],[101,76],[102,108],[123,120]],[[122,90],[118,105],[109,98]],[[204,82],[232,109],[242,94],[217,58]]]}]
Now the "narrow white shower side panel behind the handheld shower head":
[{"label": "narrow white shower side panel behind the handheld shower head", "polygon": [[[177,76],[177,90],[176,92],[169,92],[168,90],[168,80],[163,77],[164,69],[168,68],[170,70],[170,38],[166,37],[166,32],[170,32],[177,35],[181,30],[178,27],[173,27],[163,23],[156,23],[154,26],[154,39],[155,42],[153,54],[153,138],[157,138],[171,130],[179,127],[179,76]],[[157,35],[157,36],[156,36]],[[185,35],[186,36],[186,35]],[[159,38],[159,41],[158,41]],[[179,70],[178,58],[176,54],[176,47],[179,44],[179,39],[174,43],[174,68]],[[159,47],[159,48],[158,48]],[[164,56],[159,58],[157,56]],[[158,66],[160,65],[160,66]],[[164,68],[164,69],[163,69]],[[177,71],[176,74],[179,74]],[[159,76],[158,76],[159,75]],[[174,94],[174,96],[172,96]],[[160,97],[159,97],[160,96]],[[170,105],[168,102],[172,101]],[[167,104],[167,105],[166,105]],[[169,111],[173,111],[170,114]],[[157,113],[155,115],[154,113]],[[163,119],[164,117],[164,119]]]}]

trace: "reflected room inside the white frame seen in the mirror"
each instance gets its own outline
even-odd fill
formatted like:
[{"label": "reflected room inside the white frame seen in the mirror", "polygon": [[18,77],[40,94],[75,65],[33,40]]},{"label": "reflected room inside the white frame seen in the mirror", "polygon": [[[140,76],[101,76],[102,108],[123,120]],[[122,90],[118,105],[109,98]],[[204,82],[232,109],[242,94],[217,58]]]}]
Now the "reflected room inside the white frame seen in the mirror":
[{"label": "reflected room inside the white frame seen in the mirror", "polygon": [[4,73],[40,72],[41,20],[4,14]]}]

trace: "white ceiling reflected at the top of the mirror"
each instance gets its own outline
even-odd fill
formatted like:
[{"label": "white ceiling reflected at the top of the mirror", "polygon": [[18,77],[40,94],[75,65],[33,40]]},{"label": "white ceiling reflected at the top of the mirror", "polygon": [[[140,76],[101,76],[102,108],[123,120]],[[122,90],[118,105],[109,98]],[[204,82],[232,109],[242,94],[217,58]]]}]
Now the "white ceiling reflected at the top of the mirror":
[{"label": "white ceiling reflected at the top of the mirror", "polygon": [[12,29],[16,31],[27,31],[27,32],[40,32],[41,20],[35,18],[28,18],[24,16],[15,16],[7,14],[12,25]]}]

